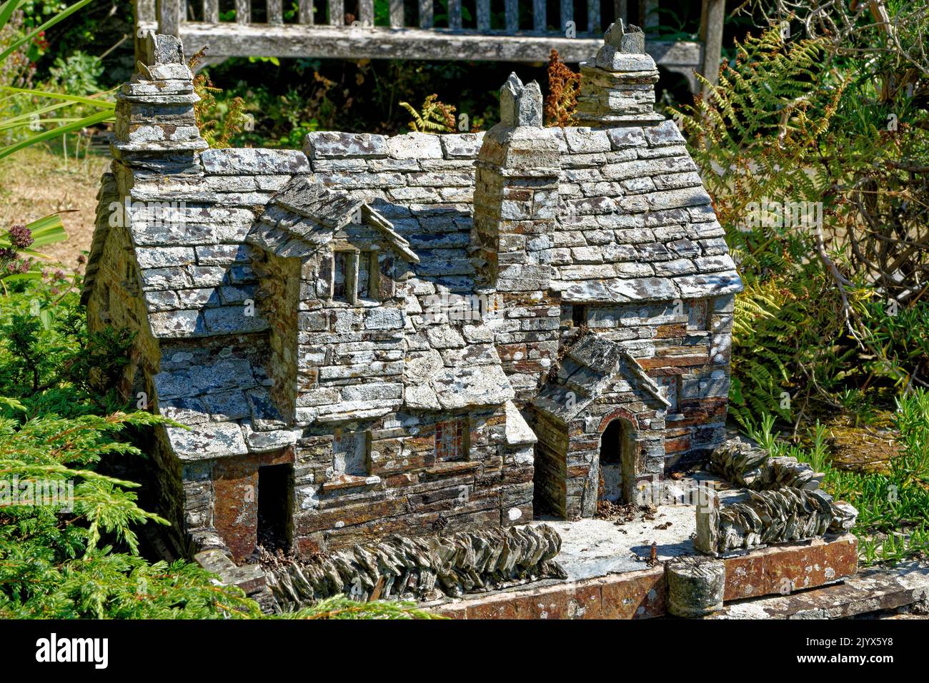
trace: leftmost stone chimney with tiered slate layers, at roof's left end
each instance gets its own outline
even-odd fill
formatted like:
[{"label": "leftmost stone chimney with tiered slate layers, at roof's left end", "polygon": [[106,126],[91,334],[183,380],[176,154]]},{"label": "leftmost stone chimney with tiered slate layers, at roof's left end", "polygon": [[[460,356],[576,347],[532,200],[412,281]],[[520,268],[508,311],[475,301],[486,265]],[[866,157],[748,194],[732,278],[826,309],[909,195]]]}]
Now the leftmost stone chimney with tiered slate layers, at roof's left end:
[{"label": "leftmost stone chimney with tiered slate layers, at roof's left end", "polygon": [[150,33],[145,61],[116,96],[113,157],[153,173],[200,173],[196,154],[209,147],[194,118],[193,73],[180,40]]}]

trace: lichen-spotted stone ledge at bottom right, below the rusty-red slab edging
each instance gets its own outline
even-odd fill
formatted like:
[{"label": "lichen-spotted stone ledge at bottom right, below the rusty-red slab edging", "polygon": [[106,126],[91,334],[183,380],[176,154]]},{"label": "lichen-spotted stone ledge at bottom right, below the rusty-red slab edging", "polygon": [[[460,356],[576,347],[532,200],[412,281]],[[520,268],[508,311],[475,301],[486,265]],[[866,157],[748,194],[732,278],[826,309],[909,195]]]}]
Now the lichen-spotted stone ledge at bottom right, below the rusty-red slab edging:
[{"label": "lichen-spotted stone ledge at bottom right, below the rusty-red slab edging", "polygon": [[705,619],[846,619],[894,610],[929,598],[929,565],[870,569],[839,584],[791,595],[739,600]]}]

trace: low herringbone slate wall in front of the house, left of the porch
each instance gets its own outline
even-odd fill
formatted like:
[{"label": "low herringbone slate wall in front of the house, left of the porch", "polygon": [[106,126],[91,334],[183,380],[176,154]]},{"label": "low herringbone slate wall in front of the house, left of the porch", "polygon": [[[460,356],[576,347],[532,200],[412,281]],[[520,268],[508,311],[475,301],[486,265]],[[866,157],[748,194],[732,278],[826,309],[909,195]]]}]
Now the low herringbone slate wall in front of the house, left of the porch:
[{"label": "low herringbone slate wall in front of the house, left of the porch", "polygon": [[561,536],[547,524],[459,532],[388,536],[351,550],[309,560],[267,551],[261,564],[282,611],[341,593],[358,600],[457,597],[543,578],[566,578],[554,558]]}]

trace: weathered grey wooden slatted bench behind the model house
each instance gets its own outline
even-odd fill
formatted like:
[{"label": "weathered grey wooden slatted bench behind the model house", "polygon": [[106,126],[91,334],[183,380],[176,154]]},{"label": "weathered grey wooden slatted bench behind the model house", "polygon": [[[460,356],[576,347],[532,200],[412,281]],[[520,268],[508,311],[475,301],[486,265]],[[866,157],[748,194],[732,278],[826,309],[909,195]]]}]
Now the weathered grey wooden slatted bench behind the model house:
[{"label": "weathered grey wooden slatted bench behind the model house", "polygon": [[[299,0],[295,22],[284,20],[289,0],[234,1],[234,20],[223,21],[219,0],[136,0],[137,45],[148,31],[177,35],[188,54],[208,47],[209,63],[230,57],[530,63],[547,61],[554,47],[576,63],[602,45],[604,17],[641,22],[648,32],[658,7],[658,0],[639,0],[630,13],[629,0],[605,0],[603,7],[601,0],[560,0],[559,17],[549,18],[545,0],[532,0],[531,13],[520,17],[518,0],[503,0],[505,25],[498,28],[491,27],[491,0],[464,0],[464,15],[463,0],[448,0],[448,16],[440,21],[433,0],[418,0],[415,18],[404,15],[403,0],[387,0],[387,26],[374,25],[373,0]],[[692,92],[698,90],[694,70],[715,76],[724,6],[725,0],[703,0],[701,41],[648,41],[648,54],[685,76]],[[254,21],[255,14],[262,20]],[[567,37],[572,28],[574,36]]]}]

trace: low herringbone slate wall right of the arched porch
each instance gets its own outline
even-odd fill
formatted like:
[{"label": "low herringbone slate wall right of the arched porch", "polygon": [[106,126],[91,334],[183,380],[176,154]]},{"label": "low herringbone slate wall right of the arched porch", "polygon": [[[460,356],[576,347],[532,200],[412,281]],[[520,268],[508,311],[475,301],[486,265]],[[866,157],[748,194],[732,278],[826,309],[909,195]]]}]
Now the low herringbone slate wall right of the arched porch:
[{"label": "low herringbone slate wall right of the arched porch", "polygon": [[844,534],[855,525],[857,509],[833,500],[819,488],[823,475],[794,457],[770,457],[736,438],[713,451],[707,470],[748,491],[721,505],[716,491],[701,489],[694,546],[704,554]]}]

